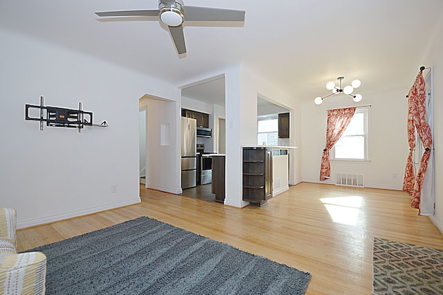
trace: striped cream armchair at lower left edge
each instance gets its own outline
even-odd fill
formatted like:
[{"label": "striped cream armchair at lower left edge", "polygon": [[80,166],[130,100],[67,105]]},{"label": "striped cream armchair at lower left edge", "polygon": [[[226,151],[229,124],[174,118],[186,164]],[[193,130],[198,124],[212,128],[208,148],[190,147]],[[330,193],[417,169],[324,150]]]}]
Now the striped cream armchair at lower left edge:
[{"label": "striped cream armchair at lower left edge", "polygon": [[17,253],[17,213],[0,208],[0,294],[44,294],[46,256]]}]

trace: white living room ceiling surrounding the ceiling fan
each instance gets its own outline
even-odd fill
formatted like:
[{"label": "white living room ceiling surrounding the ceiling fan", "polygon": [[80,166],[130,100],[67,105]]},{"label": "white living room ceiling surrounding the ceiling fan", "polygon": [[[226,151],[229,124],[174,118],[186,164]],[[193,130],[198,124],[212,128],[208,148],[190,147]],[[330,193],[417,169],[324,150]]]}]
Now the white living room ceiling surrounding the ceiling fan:
[{"label": "white living room ceiling surrounding the ceiling fan", "polygon": [[[325,83],[340,75],[344,83],[359,78],[363,97],[401,87],[406,93],[432,40],[442,37],[434,30],[442,21],[442,0],[184,2],[245,10],[246,19],[242,26],[185,23],[188,53],[183,56],[177,55],[168,30],[158,21],[99,21],[94,14],[157,9],[157,0],[1,0],[0,28],[169,80],[177,87],[242,63],[294,97],[309,100],[325,96]],[[203,93],[206,100],[224,97],[219,84],[201,87],[194,92]]]}]

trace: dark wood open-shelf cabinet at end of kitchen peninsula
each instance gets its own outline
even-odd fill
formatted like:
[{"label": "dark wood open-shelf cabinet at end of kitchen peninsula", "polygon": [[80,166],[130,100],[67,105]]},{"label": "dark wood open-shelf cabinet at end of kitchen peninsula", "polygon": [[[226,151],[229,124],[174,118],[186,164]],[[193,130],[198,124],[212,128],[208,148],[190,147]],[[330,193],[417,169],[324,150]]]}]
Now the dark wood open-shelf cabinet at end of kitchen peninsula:
[{"label": "dark wood open-shelf cabinet at end of kitchen peninsula", "polygon": [[272,150],[243,147],[243,201],[266,205],[272,190]]}]

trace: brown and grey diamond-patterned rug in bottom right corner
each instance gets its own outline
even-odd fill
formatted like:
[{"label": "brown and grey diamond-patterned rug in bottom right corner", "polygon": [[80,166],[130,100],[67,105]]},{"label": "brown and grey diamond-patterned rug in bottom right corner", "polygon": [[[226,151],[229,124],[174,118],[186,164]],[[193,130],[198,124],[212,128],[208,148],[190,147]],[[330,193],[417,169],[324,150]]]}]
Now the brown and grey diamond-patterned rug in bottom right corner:
[{"label": "brown and grey diamond-patterned rug in bottom right corner", "polygon": [[374,294],[443,294],[443,250],[374,238]]}]

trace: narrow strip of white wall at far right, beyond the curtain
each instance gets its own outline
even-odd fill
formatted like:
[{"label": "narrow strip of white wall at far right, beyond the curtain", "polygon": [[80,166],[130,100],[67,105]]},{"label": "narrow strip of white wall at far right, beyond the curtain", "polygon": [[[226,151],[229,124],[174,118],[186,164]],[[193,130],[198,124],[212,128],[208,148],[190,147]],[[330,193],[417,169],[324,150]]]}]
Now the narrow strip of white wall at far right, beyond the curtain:
[{"label": "narrow strip of white wall at far right, beyond the curtain", "polygon": [[430,34],[433,42],[428,46],[424,65],[433,67],[434,77],[435,216],[431,220],[443,233],[443,17]]}]

